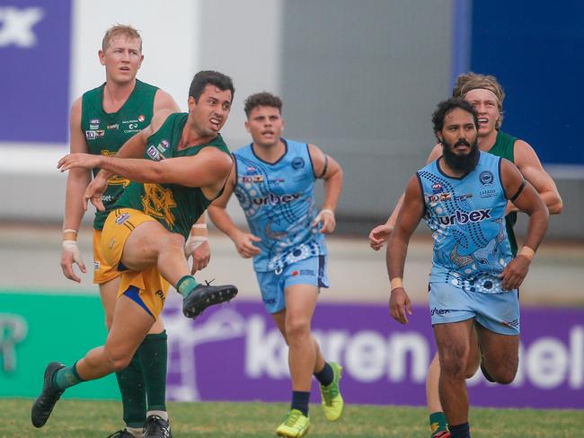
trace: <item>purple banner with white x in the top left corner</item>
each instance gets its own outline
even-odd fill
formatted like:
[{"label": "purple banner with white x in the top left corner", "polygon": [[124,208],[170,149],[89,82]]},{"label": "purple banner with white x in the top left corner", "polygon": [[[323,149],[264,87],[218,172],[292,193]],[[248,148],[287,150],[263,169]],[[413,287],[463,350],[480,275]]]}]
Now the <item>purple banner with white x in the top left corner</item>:
[{"label": "purple banner with white x in the top left corner", "polygon": [[0,142],[65,143],[71,0],[0,2]]}]

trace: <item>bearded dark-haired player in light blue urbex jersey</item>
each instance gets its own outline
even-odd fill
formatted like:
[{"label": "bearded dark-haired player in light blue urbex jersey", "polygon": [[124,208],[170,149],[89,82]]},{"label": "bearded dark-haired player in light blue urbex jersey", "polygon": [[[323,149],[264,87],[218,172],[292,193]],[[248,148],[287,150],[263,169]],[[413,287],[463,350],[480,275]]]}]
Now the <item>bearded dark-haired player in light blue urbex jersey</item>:
[{"label": "bearded dark-haired player in light blue urbex jersey", "polygon": [[[403,266],[411,233],[424,217],[434,239],[429,308],[441,368],[440,401],[451,437],[467,438],[468,370],[476,369],[482,355],[494,381],[510,383],[517,373],[518,286],[544,238],[549,213],[511,162],[479,150],[479,118],[471,104],[441,102],[432,122],[443,155],[408,182],[387,242],[390,312],[408,322]],[[516,258],[504,226],[508,200],[529,215]]]}]

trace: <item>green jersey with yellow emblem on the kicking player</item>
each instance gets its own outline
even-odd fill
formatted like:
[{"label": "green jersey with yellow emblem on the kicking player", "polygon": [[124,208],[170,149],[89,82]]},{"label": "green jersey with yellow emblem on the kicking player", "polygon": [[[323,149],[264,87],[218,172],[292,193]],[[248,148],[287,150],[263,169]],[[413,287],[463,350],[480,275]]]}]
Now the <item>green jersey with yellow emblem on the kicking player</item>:
[{"label": "green jersey with yellow emblem on the kicking player", "polygon": [[[217,135],[209,143],[177,150],[188,116],[187,113],[174,113],[166,118],[163,126],[148,137],[144,158],[159,162],[164,158],[196,155],[205,147],[216,147],[230,155],[221,135]],[[186,239],[192,224],[197,222],[212,201],[213,199],[207,199],[198,187],[130,181],[117,207],[142,211],[162,223],[167,230],[178,232]]]}]

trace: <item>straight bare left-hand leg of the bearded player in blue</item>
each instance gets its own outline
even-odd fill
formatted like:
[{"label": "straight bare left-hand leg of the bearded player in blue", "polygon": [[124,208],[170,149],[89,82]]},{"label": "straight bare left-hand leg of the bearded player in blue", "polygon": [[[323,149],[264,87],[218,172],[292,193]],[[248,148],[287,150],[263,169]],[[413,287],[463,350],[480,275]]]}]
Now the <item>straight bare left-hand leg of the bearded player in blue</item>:
[{"label": "straight bare left-hand leg of the bearded player in blue", "polygon": [[438,391],[450,425],[468,422],[465,372],[471,355],[472,325],[473,320],[434,325],[440,359]]}]

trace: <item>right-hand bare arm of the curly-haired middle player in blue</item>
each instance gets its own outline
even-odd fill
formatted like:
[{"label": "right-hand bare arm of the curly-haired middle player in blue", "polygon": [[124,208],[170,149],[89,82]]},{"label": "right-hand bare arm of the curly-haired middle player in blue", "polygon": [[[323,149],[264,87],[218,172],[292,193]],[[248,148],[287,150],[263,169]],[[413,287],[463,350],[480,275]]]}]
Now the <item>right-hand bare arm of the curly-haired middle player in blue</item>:
[{"label": "right-hand bare arm of the curly-haired middle player in blue", "polygon": [[308,153],[314,166],[314,178],[324,180],[323,208],[314,218],[313,226],[323,223],[321,232],[333,232],[336,227],[334,212],[341,196],[342,169],[341,165],[331,156],[326,155],[315,145],[308,145]]}]

